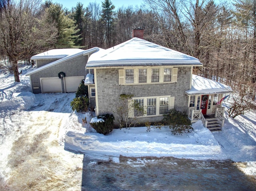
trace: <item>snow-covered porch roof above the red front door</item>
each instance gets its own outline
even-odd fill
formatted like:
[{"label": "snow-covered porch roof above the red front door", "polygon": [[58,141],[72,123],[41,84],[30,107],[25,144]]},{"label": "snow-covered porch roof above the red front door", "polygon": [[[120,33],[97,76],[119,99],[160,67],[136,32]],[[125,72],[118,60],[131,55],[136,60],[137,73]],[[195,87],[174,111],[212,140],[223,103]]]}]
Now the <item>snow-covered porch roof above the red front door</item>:
[{"label": "snow-covered porch roof above the red front door", "polygon": [[188,95],[232,92],[231,87],[198,75],[192,75],[191,85],[191,90],[186,91]]}]

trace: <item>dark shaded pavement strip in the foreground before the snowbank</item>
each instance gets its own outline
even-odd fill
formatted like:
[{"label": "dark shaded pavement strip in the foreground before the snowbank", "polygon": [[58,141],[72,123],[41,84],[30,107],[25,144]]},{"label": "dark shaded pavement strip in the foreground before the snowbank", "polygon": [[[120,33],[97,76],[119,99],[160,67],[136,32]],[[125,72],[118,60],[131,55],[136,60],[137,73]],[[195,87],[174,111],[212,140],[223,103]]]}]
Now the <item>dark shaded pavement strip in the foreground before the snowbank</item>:
[{"label": "dark shaded pavement strip in the foreground before the snowbank", "polygon": [[256,179],[232,161],[125,158],[120,163],[84,157],[82,191],[255,191]]}]

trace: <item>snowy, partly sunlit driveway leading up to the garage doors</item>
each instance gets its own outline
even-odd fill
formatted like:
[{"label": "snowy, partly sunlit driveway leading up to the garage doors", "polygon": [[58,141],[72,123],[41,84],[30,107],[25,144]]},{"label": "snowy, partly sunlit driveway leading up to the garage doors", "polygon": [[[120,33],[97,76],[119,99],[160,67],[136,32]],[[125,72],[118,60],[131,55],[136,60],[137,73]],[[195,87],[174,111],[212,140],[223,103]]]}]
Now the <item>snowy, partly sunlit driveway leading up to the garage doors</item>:
[{"label": "snowy, partly sunlit driveway leading up to the garage doors", "polygon": [[0,190],[81,188],[82,155],[59,144],[74,94],[36,95],[29,111],[6,111],[0,118]]}]

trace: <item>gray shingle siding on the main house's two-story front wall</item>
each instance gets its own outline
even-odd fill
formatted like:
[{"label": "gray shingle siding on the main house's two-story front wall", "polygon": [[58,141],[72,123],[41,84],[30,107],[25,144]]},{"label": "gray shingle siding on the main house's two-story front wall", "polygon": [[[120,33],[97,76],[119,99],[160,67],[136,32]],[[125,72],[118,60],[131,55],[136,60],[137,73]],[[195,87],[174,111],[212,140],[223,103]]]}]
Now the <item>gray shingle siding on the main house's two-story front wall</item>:
[{"label": "gray shingle siding on the main house's two-story front wall", "polygon": [[[158,83],[145,85],[119,85],[118,70],[123,68],[96,69],[99,114],[113,114],[115,124],[119,116],[117,108],[121,94],[132,94],[134,97],[174,96],[174,108],[181,112],[188,110],[188,97],[185,91],[190,89],[191,67],[178,67],[176,83]],[[137,118],[138,122],[160,121],[162,116]]]}]

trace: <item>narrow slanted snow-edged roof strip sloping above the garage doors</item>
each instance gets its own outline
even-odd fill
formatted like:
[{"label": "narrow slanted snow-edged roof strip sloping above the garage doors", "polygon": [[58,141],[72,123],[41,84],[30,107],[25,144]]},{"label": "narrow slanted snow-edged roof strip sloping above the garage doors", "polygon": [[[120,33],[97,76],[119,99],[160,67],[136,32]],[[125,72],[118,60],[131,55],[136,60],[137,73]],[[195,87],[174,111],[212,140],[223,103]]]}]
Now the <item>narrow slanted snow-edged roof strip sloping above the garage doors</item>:
[{"label": "narrow slanted snow-edged roof strip sloping above the garage doors", "polygon": [[[90,54],[90,53],[97,52],[97,51],[99,51],[99,50],[100,50],[100,48],[98,48],[98,47],[93,47],[93,48],[88,49],[88,50],[82,50],[82,51],[80,51],[80,52],[78,52],[78,53],[76,53],[76,54],[68,55],[68,56],[66,56],[66,57],[64,57],[64,58],[62,58],[62,59],[56,60],[56,61],[51,62],[51,63],[49,63],[49,64],[46,64],[46,65],[44,65],[44,66],[42,66],[42,67],[39,67],[39,68],[37,68],[37,69],[35,69],[35,70],[31,71],[31,72],[28,72],[28,73],[26,74],[26,76],[31,75],[31,74],[33,74],[33,73],[36,73],[36,72],[38,72],[38,71],[41,71],[41,70],[43,70],[43,69],[46,69],[46,68],[48,68],[48,67],[51,67],[51,66],[53,66],[53,65],[56,65],[56,64],[58,64],[58,63],[61,63],[61,62],[70,60],[70,59],[72,59],[72,58],[74,58],[74,57],[77,57],[77,56],[80,56],[80,55],[87,55],[87,54]],[[85,65],[86,65],[86,64],[84,64],[84,66],[85,66]]]}]

